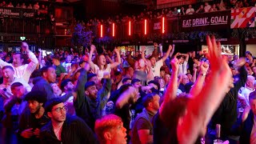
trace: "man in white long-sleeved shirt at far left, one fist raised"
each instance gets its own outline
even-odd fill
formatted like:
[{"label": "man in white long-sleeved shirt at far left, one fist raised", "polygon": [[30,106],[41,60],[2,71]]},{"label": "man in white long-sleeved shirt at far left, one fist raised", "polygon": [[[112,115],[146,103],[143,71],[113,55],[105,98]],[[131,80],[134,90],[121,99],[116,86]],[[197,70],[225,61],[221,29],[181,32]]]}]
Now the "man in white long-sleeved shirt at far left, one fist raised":
[{"label": "man in white long-sleeved shirt at far left, one fist raised", "polygon": [[38,65],[38,58],[30,51],[29,46],[26,42],[22,42],[22,51],[25,52],[30,58],[29,64],[24,64],[25,58],[21,53],[15,53],[13,55],[13,63],[7,63],[0,59],[0,67],[12,66],[14,67],[14,77],[23,78],[25,82],[29,82],[30,75],[33,73]]}]

